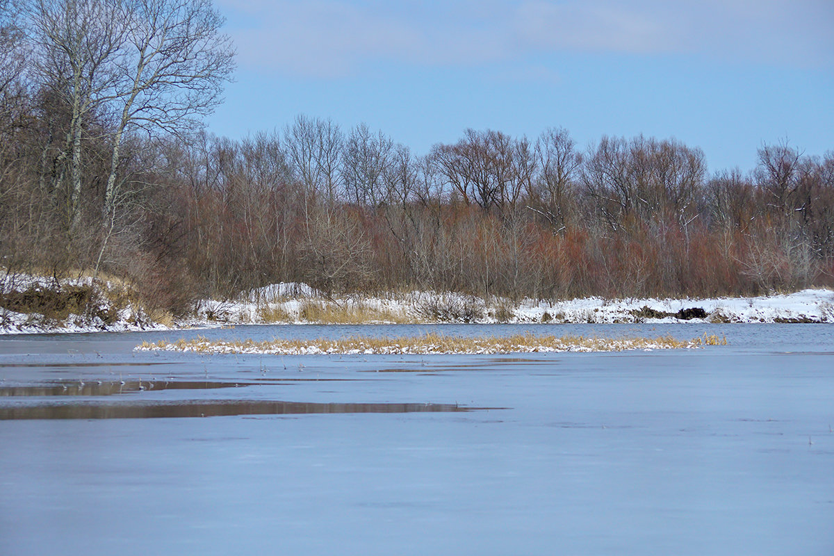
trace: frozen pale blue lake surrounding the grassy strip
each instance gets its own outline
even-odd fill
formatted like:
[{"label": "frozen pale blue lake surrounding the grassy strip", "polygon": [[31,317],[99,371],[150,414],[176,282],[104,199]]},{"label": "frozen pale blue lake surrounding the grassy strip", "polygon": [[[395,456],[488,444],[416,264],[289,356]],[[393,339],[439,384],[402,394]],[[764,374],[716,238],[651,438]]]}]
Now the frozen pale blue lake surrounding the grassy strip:
[{"label": "frozen pale blue lake surrounding the grassy strip", "polygon": [[[624,353],[204,356],[440,331]],[[0,554],[834,553],[834,325],[257,326],[0,336]]]}]

